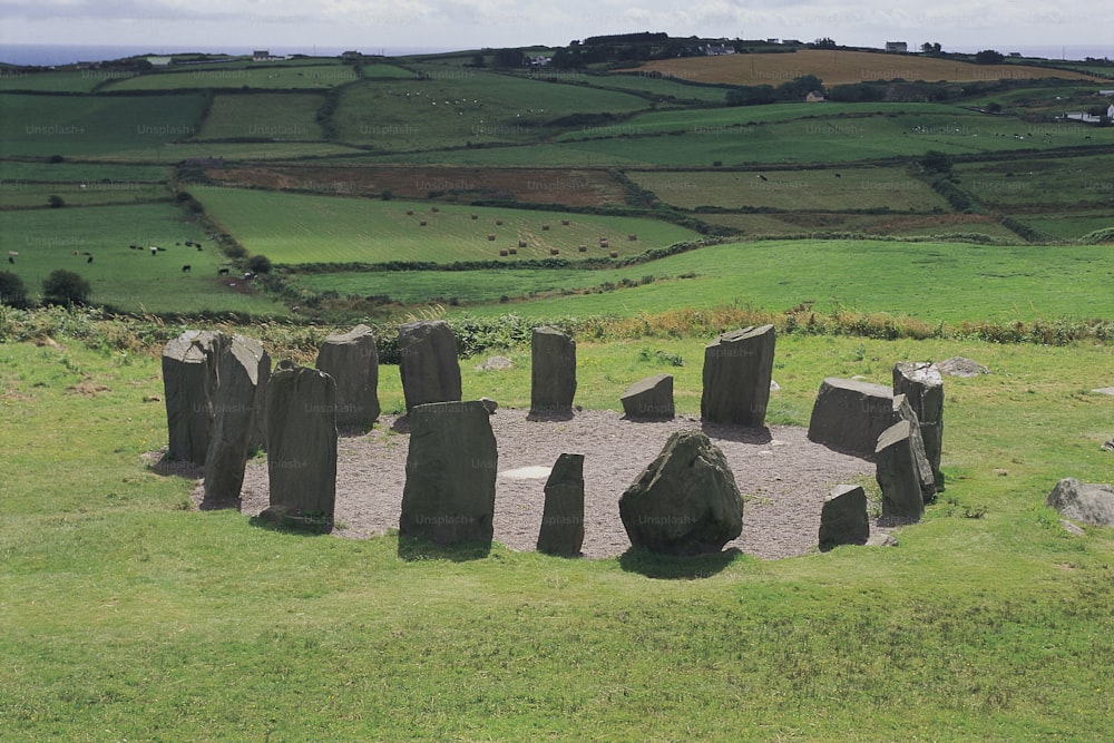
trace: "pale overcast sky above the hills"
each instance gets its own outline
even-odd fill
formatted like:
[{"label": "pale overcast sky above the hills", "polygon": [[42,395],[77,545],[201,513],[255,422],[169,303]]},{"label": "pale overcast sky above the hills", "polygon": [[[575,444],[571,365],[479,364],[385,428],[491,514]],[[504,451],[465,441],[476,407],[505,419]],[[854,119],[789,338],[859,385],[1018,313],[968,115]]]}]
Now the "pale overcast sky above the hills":
[{"label": "pale overcast sky above the hills", "polygon": [[1114,57],[1095,0],[0,0],[0,42],[380,49],[564,45],[603,33],[945,49],[1081,47]]}]

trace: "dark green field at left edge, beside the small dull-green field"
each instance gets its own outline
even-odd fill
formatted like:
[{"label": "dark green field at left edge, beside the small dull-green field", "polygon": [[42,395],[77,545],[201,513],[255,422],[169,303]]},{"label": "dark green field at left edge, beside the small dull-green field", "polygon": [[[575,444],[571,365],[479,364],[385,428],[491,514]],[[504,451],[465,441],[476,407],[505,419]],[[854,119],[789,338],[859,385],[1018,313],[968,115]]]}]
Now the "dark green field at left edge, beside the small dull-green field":
[{"label": "dark green field at left edge, beside the small dull-green field", "polygon": [[201,95],[0,95],[0,155],[105,157],[156,150],[197,133]]}]

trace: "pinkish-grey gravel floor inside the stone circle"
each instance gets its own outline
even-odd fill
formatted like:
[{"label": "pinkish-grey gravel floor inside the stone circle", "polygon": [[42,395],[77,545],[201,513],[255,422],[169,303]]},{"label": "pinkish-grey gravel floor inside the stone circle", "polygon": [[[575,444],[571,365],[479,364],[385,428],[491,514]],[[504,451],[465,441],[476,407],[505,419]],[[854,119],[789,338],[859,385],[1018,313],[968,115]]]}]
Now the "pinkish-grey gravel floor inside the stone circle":
[{"label": "pinkish-grey gravel floor inside the stone circle", "polygon": [[[338,447],[333,534],[364,539],[398,528],[405,485],[407,419],[381,416],[379,426]],[[491,417],[499,448],[495,539],[515,550],[537,544],[548,470],[561,453],[583,453],[583,554],[614,557],[631,547],[618,499],[665,446],[670,434],[702,429],[723,450],[743,493],[742,537],[727,544],[772,559],[815,549],[820,510],[832,486],[872,476],[871,461],[808,440],[800,427],[741,428],[678,416],[636,421],[609,410],[577,411],[565,420],[532,420],[528,411],[500,408]],[[514,470],[534,468],[515,477]],[[510,472],[510,476],[507,473]],[[532,477],[531,477],[532,475]],[[194,491],[201,502],[202,489]],[[265,460],[248,462],[241,512],[256,516],[268,505]],[[871,531],[877,526],[871,524]]]}]

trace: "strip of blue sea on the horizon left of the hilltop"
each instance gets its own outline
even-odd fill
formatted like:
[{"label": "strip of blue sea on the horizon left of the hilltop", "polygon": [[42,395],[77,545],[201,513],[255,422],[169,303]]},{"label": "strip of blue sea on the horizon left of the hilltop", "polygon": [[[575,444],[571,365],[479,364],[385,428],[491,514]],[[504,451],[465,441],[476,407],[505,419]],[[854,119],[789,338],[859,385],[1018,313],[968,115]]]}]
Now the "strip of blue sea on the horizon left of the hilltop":
[{"label": "strip of blue sea on the horizon left of the hilltop", "polygon": [[[311,55],[316,57],[335,57],[350,49],[362,51],[365,55],[385,55],[388,57],[400,57],[403,55],[431,55],[451,49],[430,48],[381,48],[381,47],[266,47],[272,55]],[[211,55],[250,55],[254,48],[250,47],[206,47],[206,46],[184,46],[166,47],[153,45],[149,47],[138,46],[62,46],[62,45],[30,45],[30,43],[4,43],[0,45],[0,62],[9,65],[35,65],[38,67],[49,67],[50,65],[70,65],[72,62],[96,62],[105,59],[121,59],[136,55],[182,55],[190,51]]]}]

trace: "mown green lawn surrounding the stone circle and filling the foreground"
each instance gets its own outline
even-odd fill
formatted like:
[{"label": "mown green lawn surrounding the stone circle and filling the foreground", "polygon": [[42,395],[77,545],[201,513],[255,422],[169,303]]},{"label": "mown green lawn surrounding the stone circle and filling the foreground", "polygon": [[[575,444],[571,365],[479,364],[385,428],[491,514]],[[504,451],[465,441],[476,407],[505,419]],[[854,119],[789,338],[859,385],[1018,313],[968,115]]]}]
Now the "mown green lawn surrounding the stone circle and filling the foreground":
[{"label": "mown green lawn surrounding the stone circle and filling the foreground", "polygon": [[[1108,476],[1112,400],[1081,392],[1108,348],[779,339],[788,420],[827,373],[885,381],[896,359],[955,353],[991,368],[947,382],[948,490],[896,549],[408,560],[393,536],[185,508],[192,482],[139,459],[165,437],[162,404],[141,401],[162,391],[157,360],[59,340],[0,345],[6,739],[1114,734],[1114,540],[1068,537],[1043,506],[1064,473]],[[578,398],[614,407],[628,377],[658,371],[646,346],[685,359],[670,371],[688,392],[702,345],[582,342]],[[528,400],[528,364],[471,365],[466,395]]]}]

